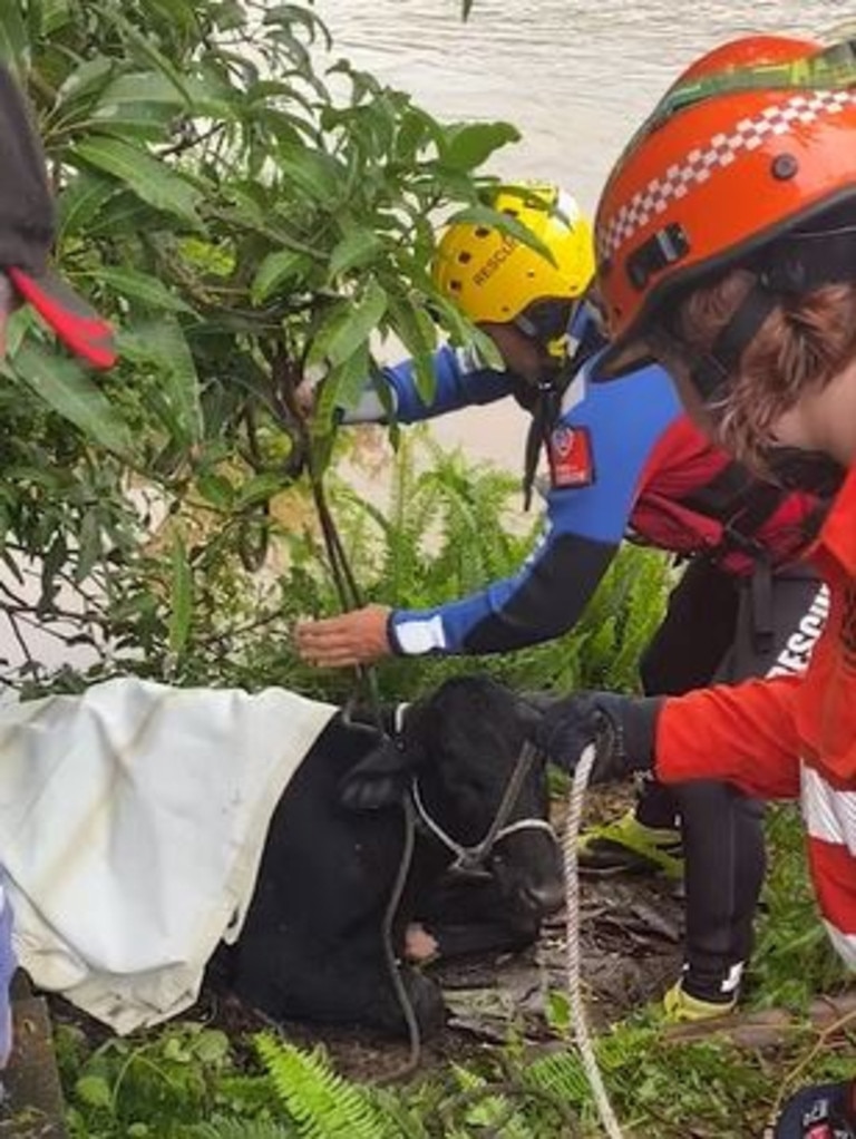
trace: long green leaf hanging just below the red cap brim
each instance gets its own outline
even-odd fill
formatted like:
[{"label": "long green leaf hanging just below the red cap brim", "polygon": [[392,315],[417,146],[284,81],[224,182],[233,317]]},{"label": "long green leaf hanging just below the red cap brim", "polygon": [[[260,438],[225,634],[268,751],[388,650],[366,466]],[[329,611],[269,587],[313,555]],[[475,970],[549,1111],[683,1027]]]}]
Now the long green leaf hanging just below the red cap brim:
[{"label": "long green leaf hanging just below the red cap brim", "polygon": [[74,360],[49,355],[32,343],[25,343],[5,367],[101,446],[114,453],[131,453],[127,424]]}]

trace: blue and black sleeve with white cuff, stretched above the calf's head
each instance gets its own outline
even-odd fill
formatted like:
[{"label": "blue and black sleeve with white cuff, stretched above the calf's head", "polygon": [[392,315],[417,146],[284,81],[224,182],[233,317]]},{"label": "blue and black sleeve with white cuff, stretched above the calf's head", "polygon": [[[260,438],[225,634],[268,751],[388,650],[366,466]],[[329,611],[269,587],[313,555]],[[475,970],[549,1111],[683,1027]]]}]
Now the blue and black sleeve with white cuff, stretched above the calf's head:
[{"label": "blue and black sleeve with white cuff, stretched above the calf's head", "polygon": [[572,629],[626,532],[647,458],[679,413],[659,368],[590,385],[563,424],[589,433],[594,481],[551,491],[543,535],[513,577],[435,608],[394,609],[396,652],[502,653]]}]

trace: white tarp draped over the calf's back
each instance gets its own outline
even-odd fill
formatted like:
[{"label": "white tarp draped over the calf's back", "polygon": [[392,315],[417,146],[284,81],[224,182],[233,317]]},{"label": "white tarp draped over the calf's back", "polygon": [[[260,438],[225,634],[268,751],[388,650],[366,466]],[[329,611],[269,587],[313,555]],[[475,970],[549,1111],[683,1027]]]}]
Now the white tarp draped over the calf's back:
[{"label": "white tarp draped over the calf's back", "polygon": [[136,678],[0,711],[0,863],[21,964],[117,1032],[196,999],[270,817],[336,708]]}]

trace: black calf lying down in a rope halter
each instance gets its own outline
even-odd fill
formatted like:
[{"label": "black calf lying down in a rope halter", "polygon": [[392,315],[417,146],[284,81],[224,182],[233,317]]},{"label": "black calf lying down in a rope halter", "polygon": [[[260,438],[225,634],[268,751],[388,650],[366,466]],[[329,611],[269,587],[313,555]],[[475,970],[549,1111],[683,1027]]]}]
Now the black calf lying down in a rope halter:
[{"label": "black calf lying down in a rope halter", "polygon": [[[336,716],[274,814],[253,902],[229,951],[235,991],[277,1019],[403,1032],[381,939],[403,847],[402,798],[416,782],[425,810],[454,842],[476,844],[536,716],[486,678],[449,681],[410,705],[400,737],[380,746],[380,737]],[[538,761],[508,821],[544,819],[546,805]],[[394,927],[399,957],[407,923],[451,861],[453,853],[421,826]],[[495,846],[489,869],[497,906],[506,910],[494,923],[507,931],[516,915],[524,934],[537,933],[539,918],[561,902],[561,860],[552,836],[515,830]],[[429,1033],[442,1023],[441,993],[422,974],[401,969]]]}]

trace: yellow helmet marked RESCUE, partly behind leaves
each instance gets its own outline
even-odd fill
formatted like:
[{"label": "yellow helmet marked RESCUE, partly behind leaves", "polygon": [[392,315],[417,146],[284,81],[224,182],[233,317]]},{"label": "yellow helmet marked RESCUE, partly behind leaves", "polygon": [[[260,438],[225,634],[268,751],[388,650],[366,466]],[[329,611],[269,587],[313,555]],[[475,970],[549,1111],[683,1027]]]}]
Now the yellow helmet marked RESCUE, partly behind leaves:
[{"label": "yellow helmet marked RESCUE, partly behind leaves", "polygon": [[551,263],[531,246],[492,226],[453,223],[434,259],[433,279],[474,323],[517,323],[544,302],[576,301],[594,276],[592,226],[570,194],[549,183],[499,190],[490,205],[521,222],[549,249]]}]

